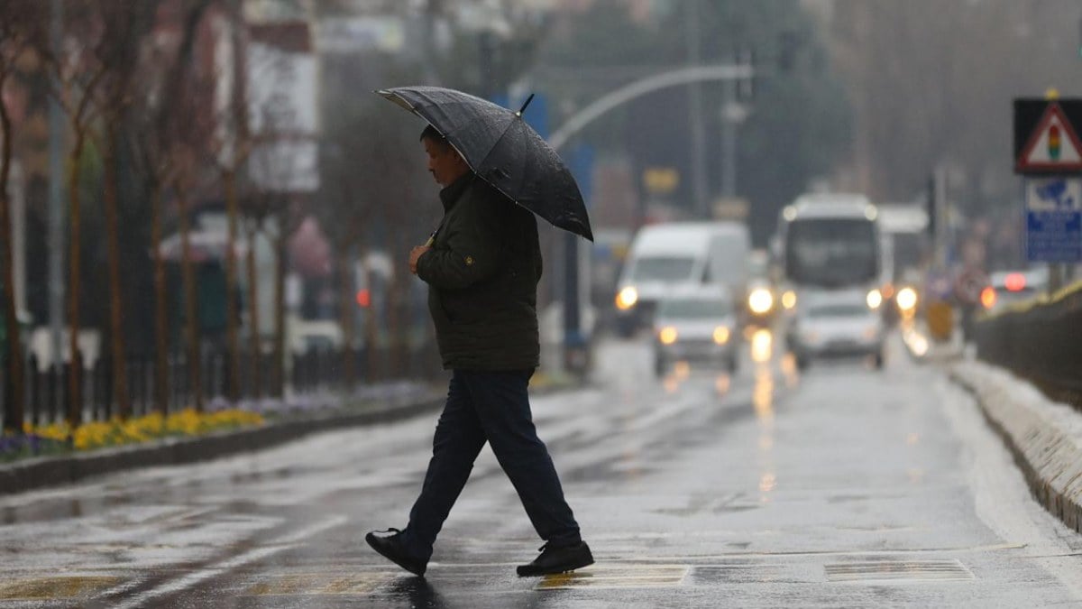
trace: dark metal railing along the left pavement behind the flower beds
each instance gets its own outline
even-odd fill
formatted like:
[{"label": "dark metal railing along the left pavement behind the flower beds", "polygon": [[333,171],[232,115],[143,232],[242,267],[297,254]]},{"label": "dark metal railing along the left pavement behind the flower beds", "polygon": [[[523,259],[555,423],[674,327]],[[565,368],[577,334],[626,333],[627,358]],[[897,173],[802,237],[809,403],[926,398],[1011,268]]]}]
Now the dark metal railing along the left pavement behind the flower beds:
[{"label": "dark metal railing along the left pavement behind the flower beds", "polygon": [[[347,392],[366,384],[397,379],[430,379],[440,374],[439,355],[435,345],[403,346],[395,348],[354,349],[352,357],[344,350],[313,349],[305,353],[290,353],[283,363],[283,379],[279,387],[274,373],[274,355],[259,354],[252,362],[250,352],[240,353],[237,389],[239,400],[272,397],[295,397],[314,392]],[[81,358],[77,359],[81,361]],[[353,375],[347,374],[346,362],[353,362]],[[199,387],[193,387],[189,362],[183,353],[169,357],[167,372],[168,397],[166,411],[175,412],[195,404],[198,393],[204,400],[227,396],[230,379],[225,352],[209,351],[198,362]],[[258,373],[253,374],[253,363]],[[154,357],[133,355],[126,362],[127,390],[132,416],[155,411]],[[0,367],[0,424],[11,412],[10,387],[4,376],[6,366]],[[117,398],[110,359],[100,358],[93,366],[72,366],[70,362],[39,366],[31,355],[24,367],[25,400],[24,422],[47,425],[64,420],[69,412],[70,375],[78,373],[81,387],[82,422],[107,420],[117,414]]]}]

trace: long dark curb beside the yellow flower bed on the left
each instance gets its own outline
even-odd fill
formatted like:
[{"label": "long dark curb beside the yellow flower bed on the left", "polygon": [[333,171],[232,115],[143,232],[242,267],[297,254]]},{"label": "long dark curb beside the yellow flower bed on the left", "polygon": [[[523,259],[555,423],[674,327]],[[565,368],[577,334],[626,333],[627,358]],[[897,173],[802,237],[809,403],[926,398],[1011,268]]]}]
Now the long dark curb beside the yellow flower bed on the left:
[{"label": "long dark curb beside the yellow flower bed on the left", "polygon": [[444,397],[388,404],[360,412],[315,415],[274,422],[261,427],[221,431],[197,438],[167,438],[146,444],[105,449],[87,454],[45,456],[0,465],[0,495],[79,482],[93,476],[136,467],[182,465],[237,453],[259,451],[317,431],[391,423],[435,411]]}]

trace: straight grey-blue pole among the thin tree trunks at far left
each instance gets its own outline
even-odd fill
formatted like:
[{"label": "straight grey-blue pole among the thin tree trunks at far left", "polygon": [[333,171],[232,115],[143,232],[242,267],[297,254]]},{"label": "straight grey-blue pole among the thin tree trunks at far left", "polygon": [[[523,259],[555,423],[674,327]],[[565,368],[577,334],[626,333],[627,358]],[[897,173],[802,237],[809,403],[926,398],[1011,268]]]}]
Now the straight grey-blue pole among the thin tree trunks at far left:
[{"label": "straight grey-blue pole among the thin tree trunks at far left", "polygon": [[[64,36],[63,0],[52,0],[50,46],[60,56]],[[60,79],[52,77],[54,95],[49,100],[49,338],[50,360],[62,360],[64,345],[64,115]]]}]

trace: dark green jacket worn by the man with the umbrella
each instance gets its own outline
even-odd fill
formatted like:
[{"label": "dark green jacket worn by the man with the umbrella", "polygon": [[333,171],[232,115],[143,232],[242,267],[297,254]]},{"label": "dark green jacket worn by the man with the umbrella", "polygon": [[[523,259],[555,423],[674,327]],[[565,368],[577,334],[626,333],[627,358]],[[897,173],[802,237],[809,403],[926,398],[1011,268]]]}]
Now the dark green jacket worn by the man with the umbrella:
[{"label": "dark green jacket worn by the man with the umbrella", "polygon": [[533,213],[467,172],[439,192],[444,220],[417,264],[447,370],[506,371],[540,363]]}]

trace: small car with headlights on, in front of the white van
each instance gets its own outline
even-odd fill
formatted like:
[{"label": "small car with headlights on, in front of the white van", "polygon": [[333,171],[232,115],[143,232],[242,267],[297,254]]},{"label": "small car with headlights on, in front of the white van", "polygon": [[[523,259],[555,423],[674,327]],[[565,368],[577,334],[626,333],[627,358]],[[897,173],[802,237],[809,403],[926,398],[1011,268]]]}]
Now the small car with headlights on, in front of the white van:
[{"label": "small car with headlights on, in front of the white van", "polygon": [[740,333],[733,297],[721,287],[678,290],[658,302],[654,323],[654,368],[658,376],[676,361],[739,364]]}]

